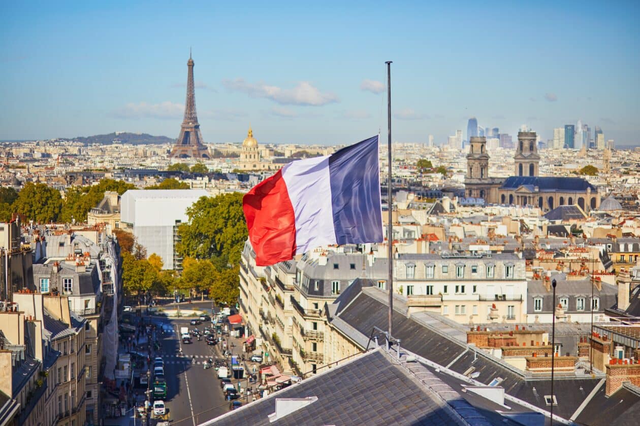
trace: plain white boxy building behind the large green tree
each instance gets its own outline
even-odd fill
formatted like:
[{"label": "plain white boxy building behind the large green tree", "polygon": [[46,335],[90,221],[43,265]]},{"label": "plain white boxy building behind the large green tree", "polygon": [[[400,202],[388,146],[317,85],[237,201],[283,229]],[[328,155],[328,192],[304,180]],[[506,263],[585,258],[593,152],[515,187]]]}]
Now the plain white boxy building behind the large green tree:
[{"label": "plain white boxy building behind the large green tree", "polygon": [[129,190],[120,199],[120,223],[133,232],[147,254],[156,253],[163,268],[180,268],[174,250],[178,225],[187,222],[187,209],[209,193],[200,189]]}]

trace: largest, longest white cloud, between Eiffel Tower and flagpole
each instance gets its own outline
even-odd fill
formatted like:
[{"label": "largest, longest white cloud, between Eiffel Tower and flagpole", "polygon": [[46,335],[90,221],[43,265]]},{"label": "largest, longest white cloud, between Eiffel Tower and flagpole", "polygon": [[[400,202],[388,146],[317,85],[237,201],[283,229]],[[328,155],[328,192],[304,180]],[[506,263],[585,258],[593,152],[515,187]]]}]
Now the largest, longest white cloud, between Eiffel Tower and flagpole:
[{"label": "largest, longest white cloud, between Eiffel Tower and flagpole", "polygon": [[223,80],[223,86],[231,91],[246,93],[252,98],[266,98],[280,105],[312,105],[318,107],[327,103],[339,102],[333,93],[321,93],[310,82],[301,81],[292,89],[269,86],[264,82],[252,84],[244,79]]}]

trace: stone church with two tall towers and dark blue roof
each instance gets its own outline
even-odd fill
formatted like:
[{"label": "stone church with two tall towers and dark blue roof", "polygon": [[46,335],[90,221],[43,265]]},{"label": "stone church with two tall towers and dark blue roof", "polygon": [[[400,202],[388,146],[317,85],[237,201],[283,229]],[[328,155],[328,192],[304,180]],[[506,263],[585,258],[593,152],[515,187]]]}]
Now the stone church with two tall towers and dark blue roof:
[{"label": "stone church with two tall towers and dark blue roof", "polygon": [[518,144],[513,157],[515,176],[507,179],[488,176],[486,138],[471,139],[465,178],[467,197],[483,198],[489,204],[538,206],[543,211],[576,204],[589,212],[600,206],[597,188],[586,179],[539,176],[540,155],[535,132],[518,132]]}]

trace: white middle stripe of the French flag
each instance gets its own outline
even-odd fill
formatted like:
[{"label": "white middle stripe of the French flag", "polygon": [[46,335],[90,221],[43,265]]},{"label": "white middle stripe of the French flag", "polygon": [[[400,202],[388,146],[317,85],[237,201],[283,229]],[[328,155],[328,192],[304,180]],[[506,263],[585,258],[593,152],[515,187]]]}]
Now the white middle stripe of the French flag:
[{"label": "white middle stripe of the French flag", "polygon": [[329,157],[298,160],[282,169],[296,216],[296,254],[335,244]]}]

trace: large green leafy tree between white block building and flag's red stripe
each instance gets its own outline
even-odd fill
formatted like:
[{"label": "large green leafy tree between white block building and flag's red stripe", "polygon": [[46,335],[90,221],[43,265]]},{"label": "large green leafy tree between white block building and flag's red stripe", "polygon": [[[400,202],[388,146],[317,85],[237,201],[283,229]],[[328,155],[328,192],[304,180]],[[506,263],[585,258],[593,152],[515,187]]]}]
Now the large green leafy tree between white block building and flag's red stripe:
[{"label": "large green leafy tree between white block building and flag's red stripe", "polygon": [[182,257],[236,265],[248,236],[242,194],[201,197],[187,209],[189,222],[180,225],[177,251]]}]

